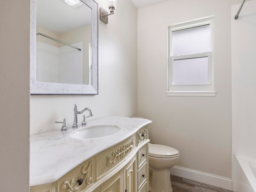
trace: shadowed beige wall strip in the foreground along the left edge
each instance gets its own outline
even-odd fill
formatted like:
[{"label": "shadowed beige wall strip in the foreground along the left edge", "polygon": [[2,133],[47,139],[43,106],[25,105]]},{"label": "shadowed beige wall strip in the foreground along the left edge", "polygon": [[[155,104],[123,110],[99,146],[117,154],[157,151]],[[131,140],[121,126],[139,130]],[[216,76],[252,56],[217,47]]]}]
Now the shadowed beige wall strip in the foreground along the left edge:
[{"label": "shadowed beige wall strip in the foreground along the left edge", "polygon": [[0,6],[0,191],[29,191],[30,1]]}]

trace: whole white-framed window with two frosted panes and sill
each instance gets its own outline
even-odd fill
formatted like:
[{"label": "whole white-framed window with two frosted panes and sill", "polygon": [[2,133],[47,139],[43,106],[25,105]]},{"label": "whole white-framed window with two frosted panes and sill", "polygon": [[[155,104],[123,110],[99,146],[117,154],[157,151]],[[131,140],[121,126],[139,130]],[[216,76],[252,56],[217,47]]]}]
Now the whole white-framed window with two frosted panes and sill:
[{"label": "whole white-framed window with two frosted panes and sill", "polygon": [[169,27],[168,96],[215,96],[213,17]]}]

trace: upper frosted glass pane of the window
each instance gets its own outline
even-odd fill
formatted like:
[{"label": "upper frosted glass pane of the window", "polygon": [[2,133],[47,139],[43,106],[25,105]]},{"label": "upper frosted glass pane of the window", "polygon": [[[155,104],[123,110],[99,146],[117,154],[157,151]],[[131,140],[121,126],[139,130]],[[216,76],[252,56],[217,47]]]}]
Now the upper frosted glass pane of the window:
[{"label": "upper frosted glass pane of the window", "polygon": [[172,32],[172,55],[210,51],[210,24]]}]

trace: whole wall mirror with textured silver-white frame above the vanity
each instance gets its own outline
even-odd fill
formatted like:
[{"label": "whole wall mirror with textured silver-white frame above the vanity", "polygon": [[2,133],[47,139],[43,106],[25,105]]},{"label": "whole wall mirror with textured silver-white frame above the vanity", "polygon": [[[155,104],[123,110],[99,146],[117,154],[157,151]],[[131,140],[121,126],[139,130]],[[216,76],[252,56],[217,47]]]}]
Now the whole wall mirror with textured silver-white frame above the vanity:
[{"label": "whole wall mirror with textured silver-white frame above the vanity", "polygon": [[32,0],[30,94],[98,94],[98,4]]}]

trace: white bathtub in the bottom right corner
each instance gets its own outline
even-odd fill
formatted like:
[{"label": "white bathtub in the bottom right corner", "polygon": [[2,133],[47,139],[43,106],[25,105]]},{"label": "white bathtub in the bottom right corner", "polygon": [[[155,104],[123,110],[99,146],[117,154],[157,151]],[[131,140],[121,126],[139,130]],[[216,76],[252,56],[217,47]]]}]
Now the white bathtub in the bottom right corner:
[{"label": "white bathtub in the bottom right corner", "polygon": [[238,161],[238,192],[256,192],[256,159],[236,156]]}]

